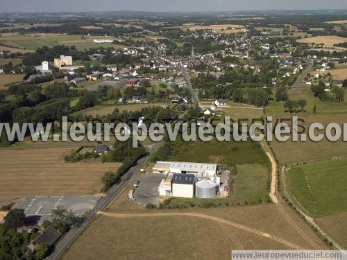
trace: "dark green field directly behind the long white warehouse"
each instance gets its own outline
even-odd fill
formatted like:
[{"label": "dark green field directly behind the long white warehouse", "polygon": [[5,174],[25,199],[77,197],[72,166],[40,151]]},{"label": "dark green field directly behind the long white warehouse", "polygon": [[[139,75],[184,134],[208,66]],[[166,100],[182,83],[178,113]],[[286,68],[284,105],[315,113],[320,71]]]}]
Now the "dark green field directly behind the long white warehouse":
[{"label": "dark green field directly behind the long white warehouse", "polygon": [[168,161],[178,162],[210,162],[235,164],[267,164],[267,157],[260,144],[253,141],[218,141],[213,139],[207,143],[195,141],[185,143],[178,155],[172,155]]}]

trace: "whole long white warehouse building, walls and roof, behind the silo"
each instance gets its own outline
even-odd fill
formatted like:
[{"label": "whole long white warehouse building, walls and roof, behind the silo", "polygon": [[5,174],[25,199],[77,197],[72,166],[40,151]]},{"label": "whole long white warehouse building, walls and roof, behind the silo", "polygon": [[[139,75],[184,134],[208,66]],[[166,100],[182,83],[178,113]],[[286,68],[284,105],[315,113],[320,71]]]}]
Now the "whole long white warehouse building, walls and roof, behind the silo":
[{"label": "whole long white warehouse building, walls and roof, behind the silo", "polygon": [[217,164],[203,164],[196,162],[156,162],[153,173],[186,173],[196,177],[214,177]]}]

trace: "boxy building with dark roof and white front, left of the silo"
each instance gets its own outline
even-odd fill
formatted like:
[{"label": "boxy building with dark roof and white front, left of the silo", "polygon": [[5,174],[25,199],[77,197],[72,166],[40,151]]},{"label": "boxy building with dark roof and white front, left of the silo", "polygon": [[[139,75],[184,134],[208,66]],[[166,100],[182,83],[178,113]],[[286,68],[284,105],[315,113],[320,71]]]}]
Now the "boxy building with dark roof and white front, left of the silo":
[{"label": "boxy building with dark roof and white front, left of the silo", "polygon": [[172,177],[172,196],[193,198],[194,182],[193,174],[174,174]]}]

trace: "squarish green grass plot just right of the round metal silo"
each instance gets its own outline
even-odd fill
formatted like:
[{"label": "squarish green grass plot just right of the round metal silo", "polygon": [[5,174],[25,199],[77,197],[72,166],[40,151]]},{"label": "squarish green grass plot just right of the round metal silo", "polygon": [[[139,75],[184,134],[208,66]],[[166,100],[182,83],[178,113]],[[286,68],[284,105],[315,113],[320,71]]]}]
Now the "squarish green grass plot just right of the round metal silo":
[{"label": "squarish green grass plot just right of the round metal silo", "polygon": [[237,165],[232,184],[232,202],[256,202],[268,196],[269,171],[260,164]]}]

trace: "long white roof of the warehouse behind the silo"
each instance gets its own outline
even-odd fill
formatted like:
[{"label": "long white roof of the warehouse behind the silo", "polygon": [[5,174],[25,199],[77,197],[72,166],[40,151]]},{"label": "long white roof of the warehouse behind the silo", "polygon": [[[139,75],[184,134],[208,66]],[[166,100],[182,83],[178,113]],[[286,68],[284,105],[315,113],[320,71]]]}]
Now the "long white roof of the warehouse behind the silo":
[{"label": "long white roof of the warehouse behind the silo", "polygon": [[203,164],[199,162],[157,162],[154,168],[179,168],[186,172],[217,171],[217,164]]}]

